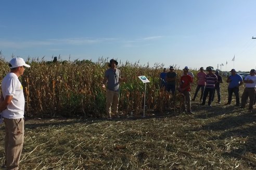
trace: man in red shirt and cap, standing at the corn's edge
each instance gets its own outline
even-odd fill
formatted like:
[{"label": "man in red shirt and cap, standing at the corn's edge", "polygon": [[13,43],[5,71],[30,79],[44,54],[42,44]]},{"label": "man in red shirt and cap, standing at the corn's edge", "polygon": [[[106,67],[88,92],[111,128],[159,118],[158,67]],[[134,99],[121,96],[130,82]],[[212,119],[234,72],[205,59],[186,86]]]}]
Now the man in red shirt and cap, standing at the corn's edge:
[{"label": "man in red shirt and cap, standing at the corn's edge", "polygon": [[181,77],[180,82],[180,89],[179,91],[184,94],[185,96],[185,106],[183,107],[183,110],[185,110],[188,114],[193,114],[191,111],[191,97],[190,97],[190,88],[191,83],[193,82],[192,77],[188,75],[188,68],[185,67],[183,69],[184,75]]}]

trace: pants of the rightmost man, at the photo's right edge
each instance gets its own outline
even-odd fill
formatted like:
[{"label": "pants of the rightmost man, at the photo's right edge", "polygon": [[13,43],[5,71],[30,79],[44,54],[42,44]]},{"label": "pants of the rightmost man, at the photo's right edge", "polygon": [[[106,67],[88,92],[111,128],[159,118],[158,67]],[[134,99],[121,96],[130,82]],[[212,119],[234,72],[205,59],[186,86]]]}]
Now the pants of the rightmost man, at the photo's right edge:
[{"label": "pants of the rightmost man, at the photo's right edge", "polygon": [[242,97],[241,97],[242,108],[245,108],[248,96],[250,98],[249,109],[252,109],[254,99],[255,99],[255,88],[245,88],[244,93],[242,93]]}]

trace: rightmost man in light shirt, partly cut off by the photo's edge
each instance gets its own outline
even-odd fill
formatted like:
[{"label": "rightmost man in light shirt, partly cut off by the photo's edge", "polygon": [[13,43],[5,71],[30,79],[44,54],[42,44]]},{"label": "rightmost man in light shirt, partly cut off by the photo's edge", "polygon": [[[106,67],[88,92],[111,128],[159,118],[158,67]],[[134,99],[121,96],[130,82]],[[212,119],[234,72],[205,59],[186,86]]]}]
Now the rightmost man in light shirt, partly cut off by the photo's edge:
[{"label": "rightmost man in light shirt, partly cut off by the photo's edge", "polygon": [[252,112],[253,103],[255,99],[255,90],[256,90],[256,70],[251,69],[250,75],[246,76],[244,82],[246,83],[246,87],[244,93],[242,93],[241,99],[241,108],[245,108],[248,96],[250,98],[249,103],[249,111]]}]

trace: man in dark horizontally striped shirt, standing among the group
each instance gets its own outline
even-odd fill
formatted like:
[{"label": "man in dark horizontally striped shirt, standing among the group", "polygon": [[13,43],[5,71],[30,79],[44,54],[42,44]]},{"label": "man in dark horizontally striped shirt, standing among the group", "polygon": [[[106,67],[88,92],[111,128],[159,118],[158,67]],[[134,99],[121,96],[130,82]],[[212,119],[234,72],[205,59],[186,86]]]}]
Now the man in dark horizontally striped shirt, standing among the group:
[{"label": "man in dark horizontally striped shirt, standing among the group", "polygon": [[204,89],[203,100],[201,105],[206,104],[206,97],[208,96],[208,93],[209,93],[208,106],[211,106],[212,94],[213,94],[213,91],[215,90],[215,84],[217,83],[217,76],[212,73],[212,69],[213,69],[212,67],[207,68],[208,74],[206,75],[206,78],[205,78],[206,88]]}]

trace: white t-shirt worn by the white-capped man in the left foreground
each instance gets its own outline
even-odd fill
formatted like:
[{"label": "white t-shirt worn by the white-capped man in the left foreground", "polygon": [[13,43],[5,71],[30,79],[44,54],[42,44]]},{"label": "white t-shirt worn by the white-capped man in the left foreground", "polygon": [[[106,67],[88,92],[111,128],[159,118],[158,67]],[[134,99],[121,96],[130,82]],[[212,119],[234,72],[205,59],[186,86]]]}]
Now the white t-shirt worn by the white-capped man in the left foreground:
[{"label": "white t-shirt worn by the white-capped man in the left foreground", "polygon": [[7,119],[20,119],[24,117],[25,98],[23,87],[14,73],[8,73],[2,81],[2,93],[4,98],[12,96],[11,103],[3,110],[2,117]]}]

